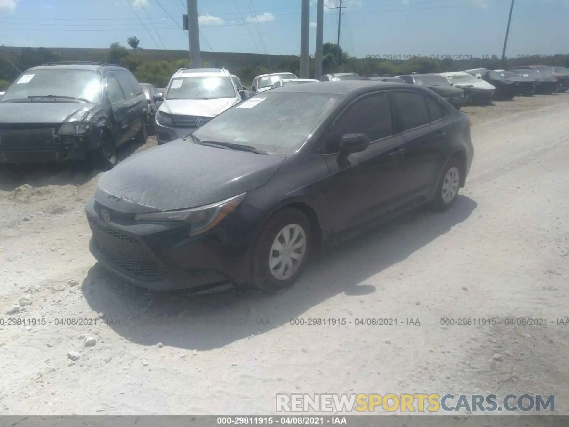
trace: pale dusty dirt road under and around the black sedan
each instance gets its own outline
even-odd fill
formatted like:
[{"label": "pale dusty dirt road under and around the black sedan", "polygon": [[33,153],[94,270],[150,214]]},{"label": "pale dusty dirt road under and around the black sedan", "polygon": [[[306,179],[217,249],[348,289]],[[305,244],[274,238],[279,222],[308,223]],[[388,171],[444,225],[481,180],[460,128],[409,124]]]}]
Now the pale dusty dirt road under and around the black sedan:
[{"label": "pale dusty dirt road under and around the black sedan", "polygon": [[[465,109],[475,159],[451,211],[354,239],[273,296],[133,288],[88,251],[96,173],[0,175],[0,413],[271,414],[276,393],[388,392],[555,393],[569,413],[569,95],[497,104]],[[8,324],[24,317],[46,324]],[[548,323],[441,325],[506,317]]]}]

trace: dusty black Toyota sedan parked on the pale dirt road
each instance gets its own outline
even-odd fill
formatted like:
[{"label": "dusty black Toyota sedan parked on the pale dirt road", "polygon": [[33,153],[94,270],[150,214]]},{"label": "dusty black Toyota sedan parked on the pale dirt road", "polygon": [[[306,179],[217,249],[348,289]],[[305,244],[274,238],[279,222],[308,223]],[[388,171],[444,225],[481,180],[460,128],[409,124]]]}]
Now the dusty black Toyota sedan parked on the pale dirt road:
[{"label": "dusty black Toyota sedan parked on the pale dirt road", "polygon": [[90,250],[156,290],[234,282],[278,291],[323,243],[428,203],[456,202],[467,116],[418,86],[273,89],[101,176]]}]

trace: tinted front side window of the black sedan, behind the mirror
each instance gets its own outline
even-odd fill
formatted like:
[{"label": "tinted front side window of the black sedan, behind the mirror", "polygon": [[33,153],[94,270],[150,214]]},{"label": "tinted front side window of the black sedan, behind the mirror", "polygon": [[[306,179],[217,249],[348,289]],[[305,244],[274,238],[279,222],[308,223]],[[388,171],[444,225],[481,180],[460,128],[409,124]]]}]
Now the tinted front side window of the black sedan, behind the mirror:
[{"label": "tinted front side window of the black sedan, behind the mirror", "polygon": [[352,102],[332,125],[325,138],[325,153],[339,151],[340,139],[347,133],[362,133],[370,142],[393,136],[391,110],[387,94],[374,93]]}]

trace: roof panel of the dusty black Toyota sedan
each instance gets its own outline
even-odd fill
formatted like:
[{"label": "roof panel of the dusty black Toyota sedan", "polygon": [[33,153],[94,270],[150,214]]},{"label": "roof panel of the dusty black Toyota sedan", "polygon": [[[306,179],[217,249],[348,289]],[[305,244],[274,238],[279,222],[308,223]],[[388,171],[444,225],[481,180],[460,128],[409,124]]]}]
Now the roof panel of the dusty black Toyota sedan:
[{"label": "roof panel of the dusty black Toyota sedan", "polygon": [[[358,92],[372,92],[377,89],[409,89],[411,85],[406,83],[394,83],[391,81],[374,80],[343,80],[343,81],[318,81],[314,83],[282,86],[272,89],[278,92],[308,92],[328,93],[331,95],[357,95]],[[413,86],[413,88],[416,88]]]}]

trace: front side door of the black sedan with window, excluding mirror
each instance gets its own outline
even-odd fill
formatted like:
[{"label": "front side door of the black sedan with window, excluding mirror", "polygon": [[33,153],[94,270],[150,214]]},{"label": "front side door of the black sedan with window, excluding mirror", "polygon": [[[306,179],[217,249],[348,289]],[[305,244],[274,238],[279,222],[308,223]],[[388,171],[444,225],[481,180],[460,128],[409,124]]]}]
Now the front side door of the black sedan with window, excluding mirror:
[{"label": "front side door of the black sedan with window, excluding mirror", "polygon": [[[338,155],[340,139],[348,133],[363,133],[369,147]],[[331,177],[327,193],[335,206],[335,232],[373,221],[393,208],[402,178],[403,138],[394,134],[391,110],[385,92],[375,92],[354,100],[324,135],[326,161]]]}]

